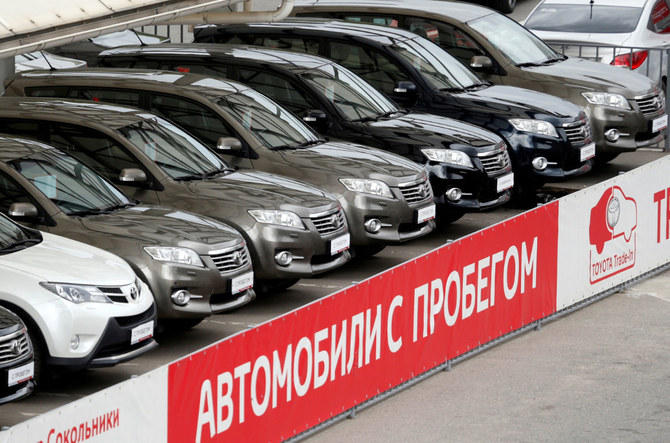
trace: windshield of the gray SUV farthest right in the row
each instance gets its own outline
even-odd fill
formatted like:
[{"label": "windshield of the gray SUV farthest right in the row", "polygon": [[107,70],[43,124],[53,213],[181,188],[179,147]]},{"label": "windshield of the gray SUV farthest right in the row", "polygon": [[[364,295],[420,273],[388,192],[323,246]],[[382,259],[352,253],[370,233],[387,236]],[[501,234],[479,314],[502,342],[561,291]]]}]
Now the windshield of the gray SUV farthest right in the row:
[{"label": "windshield of the gray SUV farthest right in the row", "polygon": [[542,64],[560,56],[526,28],[502,14],[489,14],[468,22],[515,65]]}]

